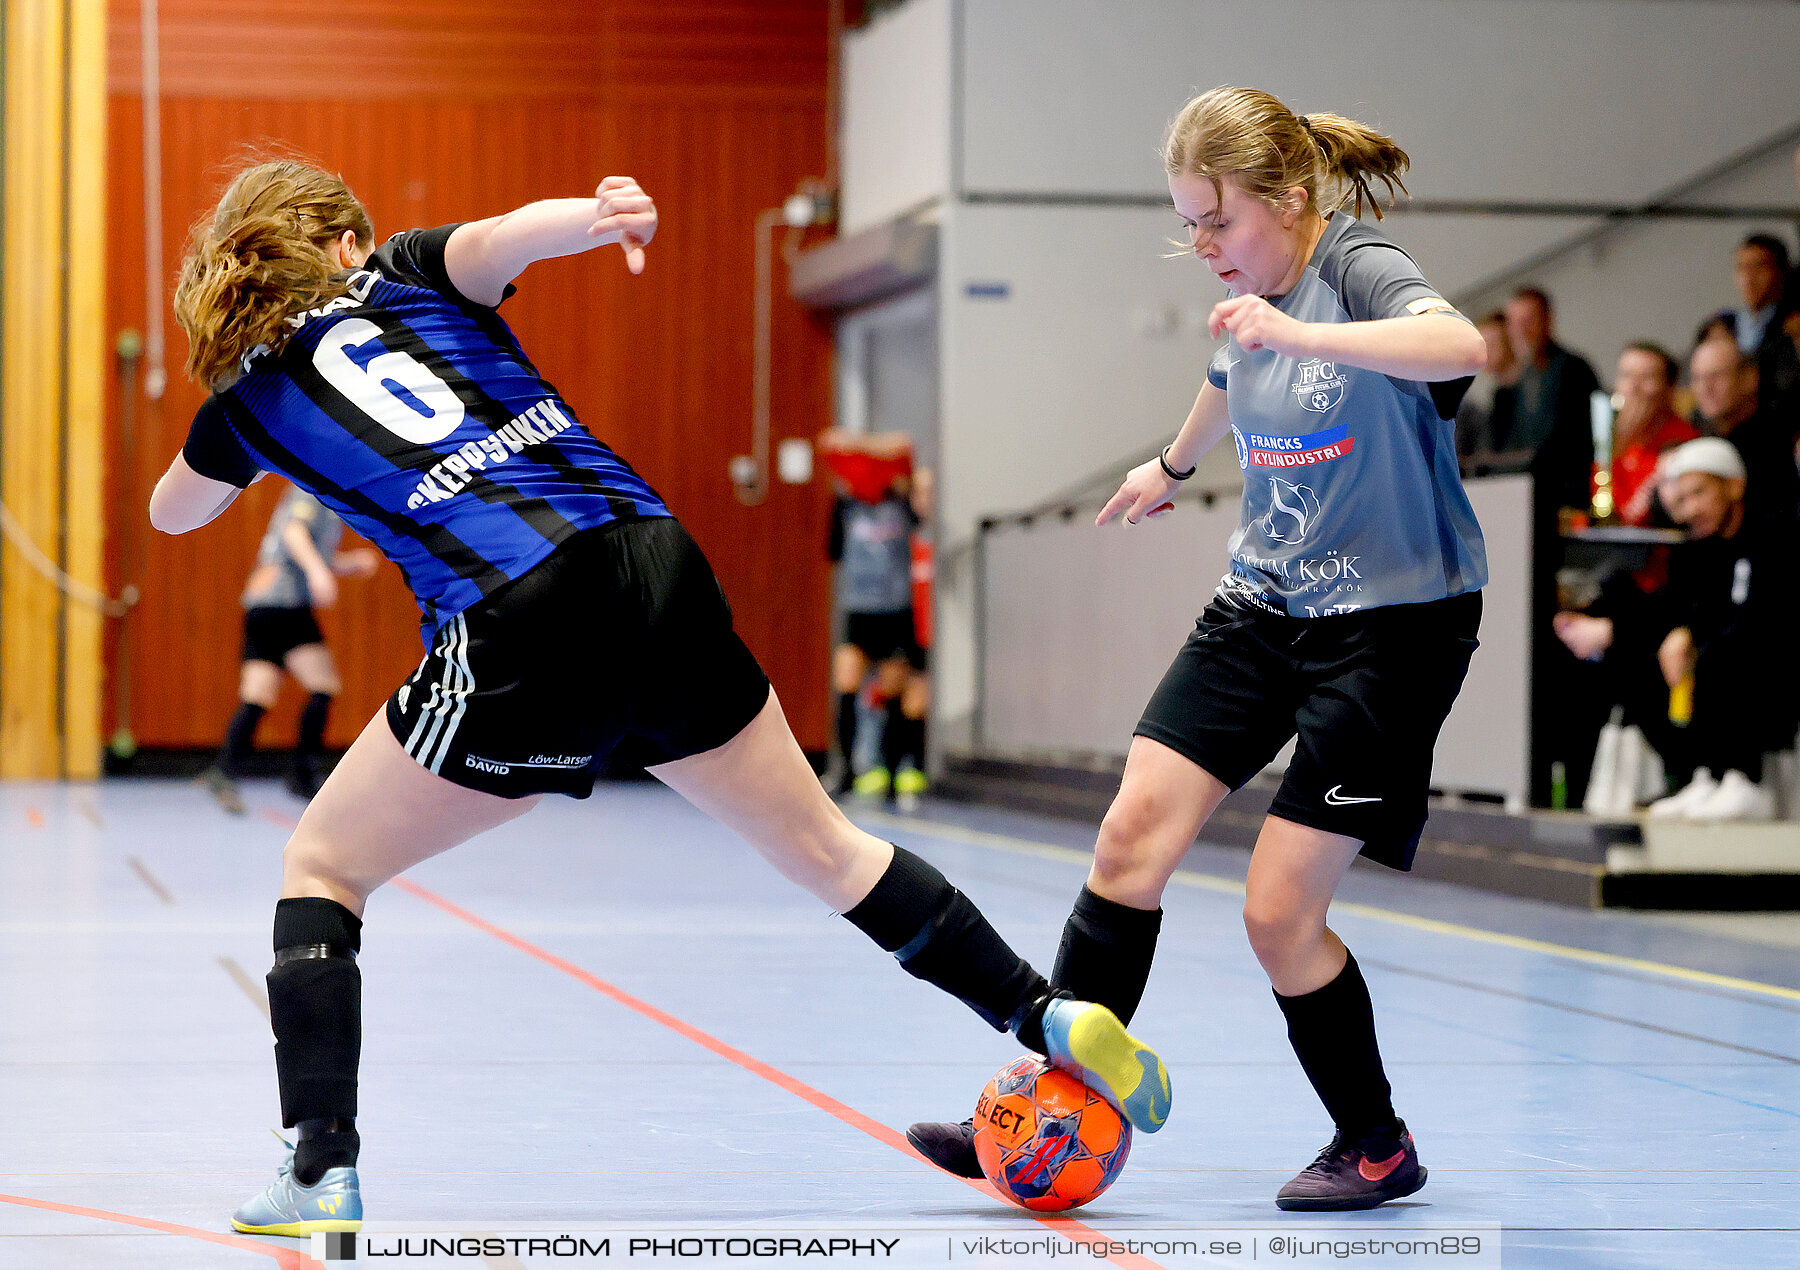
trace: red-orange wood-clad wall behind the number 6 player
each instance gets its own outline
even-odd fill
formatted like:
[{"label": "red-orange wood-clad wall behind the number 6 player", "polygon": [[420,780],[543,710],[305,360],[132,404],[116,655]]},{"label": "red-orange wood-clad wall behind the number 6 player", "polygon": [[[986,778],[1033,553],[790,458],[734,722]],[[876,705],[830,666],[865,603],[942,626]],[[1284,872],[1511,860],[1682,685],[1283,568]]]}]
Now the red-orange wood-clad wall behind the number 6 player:
[{"label": "red-orange wood-clad wall behind the number 6 player", "polygon": [[[751,446],[752,218],[824,169],[826,2],[315,0],[261,13],[162,0],[160,14],[171,281],[187,225],[250,142],[338,169],[378,239],[580,194],[608,173],[655,196],[662,223],[641,277],[616,248],[547,261],[502,313],[587,426],[700,540],[801,745],[823,750],[828,491],[776,484],[763,505],[743,507],[725,464]],[[110,333],[144,329],[137,23],[135,4],[113,4]],[[783,291],[778,254],[776,441],[812,435],[830,414],[828,331]],[[108,559],[113,586],[131,581],[133,550],[144,561],[144,601],[124,628],[139,745],[209,747],[236,700],[238,592],[279,482],[185,538],[149,531],[149,489],[203,396],[180,374],[173,315],[167,326],[169,392],[139,396],[130,470],[117,378],[110,390]],[[374,583],[346,583],[322,624],[346,682],[328,739],[347,745],[418,662],[418,610],[389,567]],[[108,730],[115,694],[110,703]],[[292,736],[283,709],[261,741]]]}]

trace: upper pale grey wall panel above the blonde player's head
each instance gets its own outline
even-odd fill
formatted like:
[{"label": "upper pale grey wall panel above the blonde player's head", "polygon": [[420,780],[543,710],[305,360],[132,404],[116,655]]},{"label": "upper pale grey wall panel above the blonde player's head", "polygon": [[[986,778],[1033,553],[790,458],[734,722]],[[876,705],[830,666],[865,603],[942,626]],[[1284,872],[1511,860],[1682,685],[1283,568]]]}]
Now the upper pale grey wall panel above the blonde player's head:
[{"label": "upper pale grey wall panel above the blonde player's head", "polygon": [[1795,122],[1800,5],[967,0],[968,191],[1157,192],[1195,92],[1390,131],[1420,198],[1634,201]]}]

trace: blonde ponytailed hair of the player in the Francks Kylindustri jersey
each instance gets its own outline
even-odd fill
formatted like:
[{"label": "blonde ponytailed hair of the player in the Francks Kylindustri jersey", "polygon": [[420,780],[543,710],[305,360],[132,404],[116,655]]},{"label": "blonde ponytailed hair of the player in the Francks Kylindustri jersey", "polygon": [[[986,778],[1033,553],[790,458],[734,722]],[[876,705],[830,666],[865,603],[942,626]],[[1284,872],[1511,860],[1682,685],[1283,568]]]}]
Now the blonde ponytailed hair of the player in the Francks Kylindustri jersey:
[{"label": "blonde ponytailed hair of the player in the Francks Kylindustri jersey", "polygon": [[[1175,115],[1163,142],[1163,167],[1170,176],[1206,176],[1217,198],[1229,176],[1253,198],[1276,207],[1282,194],[1300,187],[1307,203],[1336,210],[1355,200],[1381,219],[1381,203],[1370,182],[1379,180],[1395,198],[1406,185],[1400,174],[1411,160],[1391,137],[1343,115],[1296,115],[1260,88],[1213,88]],[[1337,201],[1321,205],[1321,191],[1343,187]]]}]

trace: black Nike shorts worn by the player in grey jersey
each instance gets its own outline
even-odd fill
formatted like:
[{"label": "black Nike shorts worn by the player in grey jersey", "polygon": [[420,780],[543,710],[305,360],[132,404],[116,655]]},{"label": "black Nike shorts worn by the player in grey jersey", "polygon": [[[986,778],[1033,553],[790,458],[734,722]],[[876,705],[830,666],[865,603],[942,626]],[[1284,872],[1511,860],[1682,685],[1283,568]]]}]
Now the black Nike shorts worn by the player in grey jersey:
[{"label": "black Nike shorts worn by the player in grey jersey", "polygon": [[1298,734],[1269,813],[1357,838],[1370,860],[1411,869],[1431,750],[1480,624],[1480,592],[1332,617],[1213,601],[1138,736],[1237,790]]}]

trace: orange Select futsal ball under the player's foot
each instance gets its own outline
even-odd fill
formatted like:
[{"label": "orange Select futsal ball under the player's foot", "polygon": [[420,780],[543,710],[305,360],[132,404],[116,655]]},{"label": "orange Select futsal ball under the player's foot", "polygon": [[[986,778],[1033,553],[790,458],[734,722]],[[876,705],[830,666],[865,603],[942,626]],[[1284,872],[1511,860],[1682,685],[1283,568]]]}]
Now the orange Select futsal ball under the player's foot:
[{"label": "orange Select futsal ball under the player's foot", "polygon": [[1033,1212],[1075,1209],[1112,1185],[1130,1124],[1075,1076],[1026,1054],[976,1103],[976,1158],[988,1182]]}]

